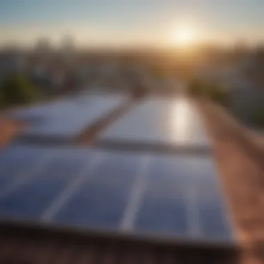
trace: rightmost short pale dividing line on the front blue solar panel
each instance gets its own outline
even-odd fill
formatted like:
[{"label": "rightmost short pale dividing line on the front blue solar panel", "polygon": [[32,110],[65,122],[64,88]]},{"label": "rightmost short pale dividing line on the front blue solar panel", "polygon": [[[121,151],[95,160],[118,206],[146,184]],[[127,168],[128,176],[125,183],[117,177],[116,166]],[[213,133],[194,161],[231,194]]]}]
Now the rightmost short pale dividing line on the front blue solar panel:
[{"label": "rightmost short pale dividing line on the front blue solar panel", "polygon": [[[188,186],[189,187],[189,186]],[[196,203],[197,192],[190,186],[185,192],[186,207],[188,213],[188,224],[189,224],[189,236],[197,237],[201,234],[199,225],[199,212]]]}]

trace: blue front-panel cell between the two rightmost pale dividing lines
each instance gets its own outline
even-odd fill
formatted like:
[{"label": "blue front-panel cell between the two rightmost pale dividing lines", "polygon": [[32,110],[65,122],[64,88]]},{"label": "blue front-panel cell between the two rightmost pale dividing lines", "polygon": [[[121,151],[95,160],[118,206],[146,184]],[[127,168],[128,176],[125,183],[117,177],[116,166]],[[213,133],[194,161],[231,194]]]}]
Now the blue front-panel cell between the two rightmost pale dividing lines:
[{"label": "blue front-panel cell between the two rightmost pale dividing lines", "polygon": [[[183,236],[188,216],[183,198],[185,160],[158,156],[151,162],[149,182],[138,212],[135,229],[163,231]],[[183,162],[183,163],[182,163]],[[181,175],[177,177],[176,175]]]}]

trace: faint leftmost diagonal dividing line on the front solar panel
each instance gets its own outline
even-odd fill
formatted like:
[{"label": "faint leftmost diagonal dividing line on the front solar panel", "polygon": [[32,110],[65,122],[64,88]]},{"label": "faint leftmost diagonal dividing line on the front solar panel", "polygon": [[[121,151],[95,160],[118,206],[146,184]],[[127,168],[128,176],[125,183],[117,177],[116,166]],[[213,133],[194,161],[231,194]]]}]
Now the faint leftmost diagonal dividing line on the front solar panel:
[{"label": "faint leftmost diagonal dividing line on the front solar panel", "polygon": [[1,190],[0,199],[4,199],[6,196],[18,190],[22,185],[24,185],[28,181],[31,181],[36,173],[43,170],[44,167],[49,163],[51,158],[54,158],[54,156],[56,156],[56,153],[54,153],[53,151],[52,154],[50,153],[50,150],[47,152],[47,154],[44,154],[44,156],[40,158],[40,160],[38,160],[38,163],[35,164],[35,166],[31,167],[31,170],[25,170],[24,172],[22,172],[17,181],[11,182],[10,185],[6,186],[4,190]]}]

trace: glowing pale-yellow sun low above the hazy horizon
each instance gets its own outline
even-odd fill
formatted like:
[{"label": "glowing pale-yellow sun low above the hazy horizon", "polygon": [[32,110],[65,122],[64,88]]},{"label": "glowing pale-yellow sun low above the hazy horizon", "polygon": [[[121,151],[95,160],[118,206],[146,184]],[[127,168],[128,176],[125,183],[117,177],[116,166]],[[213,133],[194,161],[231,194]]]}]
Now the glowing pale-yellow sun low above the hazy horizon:
[{"label": "glowing pale-yellow sun low above the hazy horizon", "polygon": [[182,24],[177,26],[172,33],[172,41],[179,47],[190,46],[197,40],[197,32],[195,28],[188,25]]}]

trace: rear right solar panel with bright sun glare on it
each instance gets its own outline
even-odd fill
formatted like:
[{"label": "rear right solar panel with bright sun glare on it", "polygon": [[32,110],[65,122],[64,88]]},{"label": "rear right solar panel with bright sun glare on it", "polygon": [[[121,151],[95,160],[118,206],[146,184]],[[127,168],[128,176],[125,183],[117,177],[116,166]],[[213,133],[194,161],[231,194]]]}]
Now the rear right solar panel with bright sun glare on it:
[{"label": "rear right solar panel with bright sun glare on it", "polygon": [[99,137],[99,144],[209,148],[201,118],[188,99],[147,99]]}]

